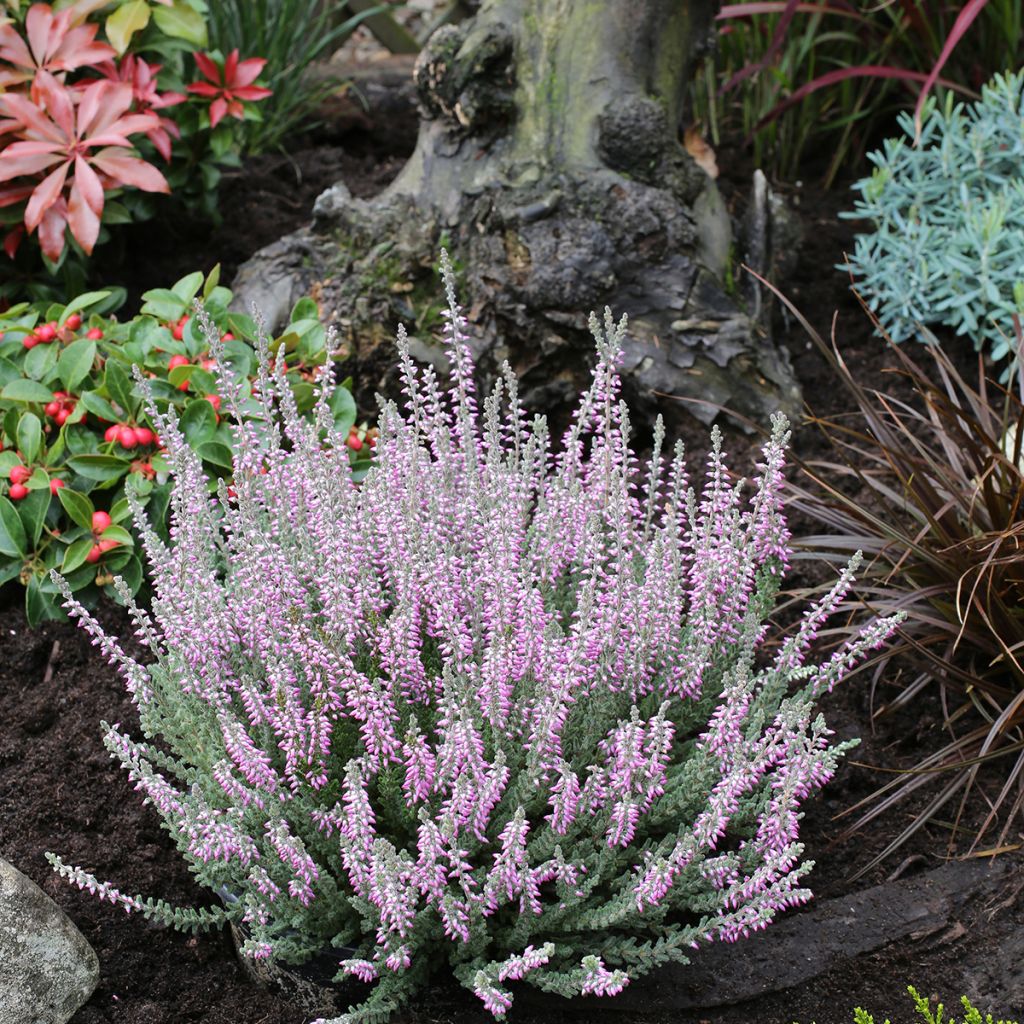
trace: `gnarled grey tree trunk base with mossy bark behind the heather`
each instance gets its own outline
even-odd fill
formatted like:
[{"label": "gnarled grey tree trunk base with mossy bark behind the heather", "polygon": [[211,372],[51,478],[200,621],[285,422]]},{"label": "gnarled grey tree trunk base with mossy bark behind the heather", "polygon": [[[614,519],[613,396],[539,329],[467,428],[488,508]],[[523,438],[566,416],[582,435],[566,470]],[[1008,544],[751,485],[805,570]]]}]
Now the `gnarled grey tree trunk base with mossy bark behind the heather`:
[{"label": "gnarled grey tree trunk base with mossy bark behind the heather", "polygon": [[[391,351],[375,321],[429,311],[409,296],[444,244],[484,377],[508,358],[524,397],[554,412],[587,382],[587,316],[630,315],[624,381],[641,415],[713,404],[766,422],[800,409],[786,358],[727,294],[734,251],[715,182],[680,143],[691,63],[714,0],[481,0],[431,37],[416,66],[415,154],[376,200],[321,198],[309,249],[325,313],[371,388]],[[386,265],[387,272],[380,271]],[[376,360],[376,361],[375,361]],[[667,401],[665,394],[706,404]]]}]

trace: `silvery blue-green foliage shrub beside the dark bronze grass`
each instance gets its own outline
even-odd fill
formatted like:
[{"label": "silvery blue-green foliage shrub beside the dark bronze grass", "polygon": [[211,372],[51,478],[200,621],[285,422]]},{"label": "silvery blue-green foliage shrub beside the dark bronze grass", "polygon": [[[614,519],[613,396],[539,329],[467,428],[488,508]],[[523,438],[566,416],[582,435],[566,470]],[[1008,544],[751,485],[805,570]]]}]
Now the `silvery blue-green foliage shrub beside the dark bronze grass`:
[{"label": "silvery blue-green foliage shrub beside the dark bronze grass", "polygon": [[903,113],[903,136],[869,155],[874,171],[844,216],[874,230],[857,236],[849,268],[895,341],[943,324],[994,359],[1010,353],[1024,310],[1022,88],[1024,72],[996,75],[978,102],[933,101],[916,146]]}]

